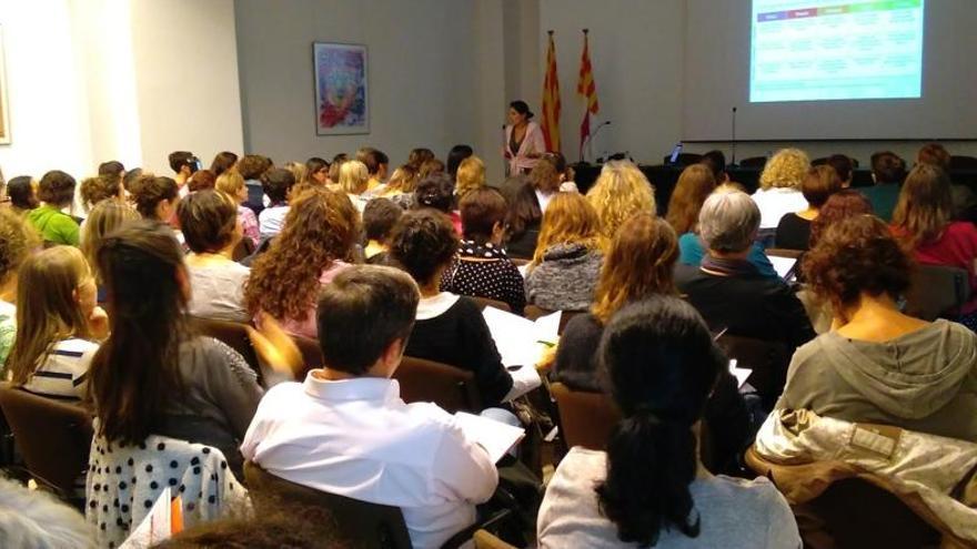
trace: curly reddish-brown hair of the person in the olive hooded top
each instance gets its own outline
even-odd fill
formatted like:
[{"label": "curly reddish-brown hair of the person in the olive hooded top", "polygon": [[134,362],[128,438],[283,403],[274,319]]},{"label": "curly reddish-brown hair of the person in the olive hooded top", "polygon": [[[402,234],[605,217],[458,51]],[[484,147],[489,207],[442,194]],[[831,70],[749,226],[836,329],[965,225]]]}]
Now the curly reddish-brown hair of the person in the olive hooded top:
[{"label": "curly reddish-brown hair of the person in the olive hooded top", "polygon": [[882,220],[855,215],[833,224],[802,261],[802,271],[818,297],[835,312],[865,293],[896,299],[909,287],[913,260]]}]

